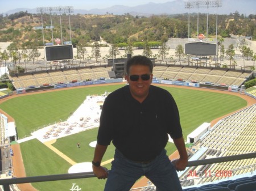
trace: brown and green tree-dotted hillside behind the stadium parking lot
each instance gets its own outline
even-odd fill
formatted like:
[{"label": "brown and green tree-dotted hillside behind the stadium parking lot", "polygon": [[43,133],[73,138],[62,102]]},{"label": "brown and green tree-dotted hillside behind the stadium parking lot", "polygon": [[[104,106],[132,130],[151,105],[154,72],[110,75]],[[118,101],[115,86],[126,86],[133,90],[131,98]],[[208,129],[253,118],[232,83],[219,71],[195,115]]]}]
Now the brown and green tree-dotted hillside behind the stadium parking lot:
[{"label": "brown and green tree-dotted hillside behind the stadium parking lot", "polygon": [[[200,14],[200,33],[207,32],[206,17],[207,15]],[[191,34],[189,36],[195,37],[197,16],[191,14],[190,18],[189,31]],[[208,36],[216,36],[216,15],[209,15],[208,25]],[[239,12],[218,15],[218,35],[220,37],[229,37],[230,34],[233,34],[252,36],[253,39],[256,39],[255,26],[253,15],[250,15],[250,18],[240,15]],[[100,37],[111,44],[129,43],[129,41],[167,41],[176,37],[186,38],[188,37],[188,15],[153,15],[149,18],[130,14],[77,14],[70,16],[63,14],[51,17],[48,14],[43,14],[41,17],[27,12],[18,12],[5,17],[0,15],[0,42],[11,41],[19,49],[43,46],[44,43],[50,43],[56,38],[72,41],[75,47],[77,44],[86,46],[92,41],[100,40]]]}]

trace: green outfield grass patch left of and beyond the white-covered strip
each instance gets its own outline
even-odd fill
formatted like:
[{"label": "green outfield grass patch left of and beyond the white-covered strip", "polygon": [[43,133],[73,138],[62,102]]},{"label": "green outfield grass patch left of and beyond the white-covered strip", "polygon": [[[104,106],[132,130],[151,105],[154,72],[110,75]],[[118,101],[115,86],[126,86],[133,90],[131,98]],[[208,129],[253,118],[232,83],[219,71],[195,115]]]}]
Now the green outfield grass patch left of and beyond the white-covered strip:
[{"label": "green outfield grass patch left of and beyond the white-covered strip", "polygon": [[48,92],[36,95],[15,97],[0,104],[3,111],[14,119],[19,138],[30,135],[31,131],[48,126],[60,120],[66,120],[71,112],[85,100],[87,95],[104,94],[105,90],[112,92],[118,87],[89,87]]}]

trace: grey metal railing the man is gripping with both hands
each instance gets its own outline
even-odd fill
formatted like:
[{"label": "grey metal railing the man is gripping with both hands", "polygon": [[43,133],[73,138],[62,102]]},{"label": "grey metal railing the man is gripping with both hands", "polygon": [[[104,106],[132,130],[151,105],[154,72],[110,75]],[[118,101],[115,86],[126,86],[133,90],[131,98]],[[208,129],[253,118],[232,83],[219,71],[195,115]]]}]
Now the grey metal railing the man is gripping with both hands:
[{"label": "grey metal railing the man is gripping with both hands", "polygon": [[[211,158],[204,160],[193,160],[189,161],[187,167],[193,167],[198,165],[205,164],[214,164],[214,163],[222,163],[222,162],[230,162],[234,160],[242,160],[242,159],[251,159],[256,158],[256,152],[251,152],[248,154],[241,155],[233,155],[233,156],[224,156],[219,158]],[[31,176],[31,177],[19,177],[14,179],[0,179],[0,185],[3,185],[4,191],[11,191],[11,184],[23,184],[30,182],[46,182],[46,181],[57,181],[57,180],[71,180],[71,179],[85,179],[95,177],[93,172],[80,172],[80,173],[67,173],[60,175],[46,175],[46,176]]]}]

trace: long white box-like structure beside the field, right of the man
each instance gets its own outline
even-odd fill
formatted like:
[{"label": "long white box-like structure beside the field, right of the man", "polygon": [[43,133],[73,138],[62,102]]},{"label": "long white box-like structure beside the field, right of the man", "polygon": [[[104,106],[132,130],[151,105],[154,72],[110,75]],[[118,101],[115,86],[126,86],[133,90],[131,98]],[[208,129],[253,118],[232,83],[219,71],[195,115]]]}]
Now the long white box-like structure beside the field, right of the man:
[{"label": "long white box-like structure beside the field, right of the man", "polygon": [[187,143],[196,143],[199,141],[200,137],[205,134],[209,128],[210,124],[208,122],[204,122],[187,136]]}]

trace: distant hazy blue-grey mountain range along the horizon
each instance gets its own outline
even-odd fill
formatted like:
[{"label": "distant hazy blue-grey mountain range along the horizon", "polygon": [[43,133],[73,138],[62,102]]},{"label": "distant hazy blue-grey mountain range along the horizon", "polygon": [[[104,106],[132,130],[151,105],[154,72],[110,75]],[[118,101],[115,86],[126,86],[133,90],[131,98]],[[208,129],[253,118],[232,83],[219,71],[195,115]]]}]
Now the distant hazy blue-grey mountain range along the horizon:
[{"label": "distant hazy blue-grey mountain range along the horizon", "polygon": [[[256,14],[256,1],[255,0],[222,0],[222,6],[218,8],[202,8],[202,9],[185,9],[185,2],[184,0],[175,0],[166,3],[147,3],[144,5],[139,6],[122,6],[122,5],[114,5],[112,7],[107,7],[105,9],[91,9],[91,10],[82,10],[82,9],[75,9],[73,14],[114,14],[114,15],[123,15],[123,14],[130,14],[130,15],[138,15],[138,16],[150,16],[150,15],[172,15],[172,14],[184,14],[186,12],[201,12],[201,13],[209,13],[209,14],[225,14],[228,15],[230,13],[234,13],[236,11],[239,14],[243,15],[250,15]],[[72,6],[72,2],[71,2]],[[46,5],[47,7],[47,5]],[[19,11],[27,11],[32,14],[36,14],[36,7],[35,9],[14,9],[2,14],[14,14],[15,12]]]}]

